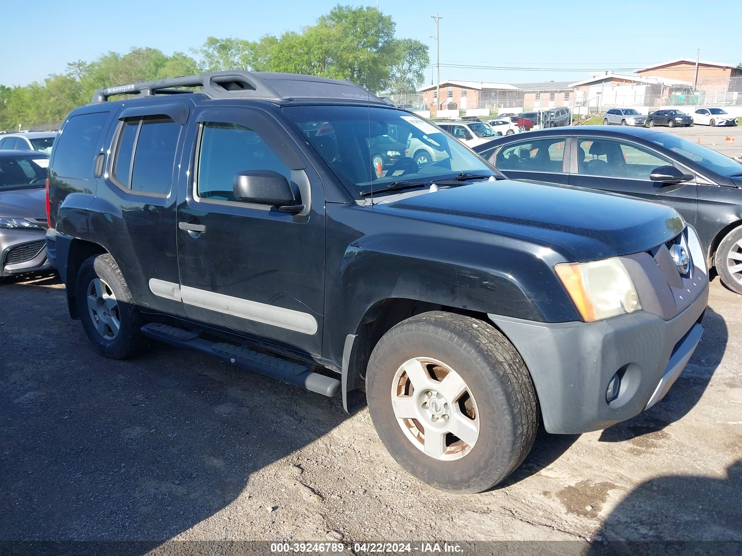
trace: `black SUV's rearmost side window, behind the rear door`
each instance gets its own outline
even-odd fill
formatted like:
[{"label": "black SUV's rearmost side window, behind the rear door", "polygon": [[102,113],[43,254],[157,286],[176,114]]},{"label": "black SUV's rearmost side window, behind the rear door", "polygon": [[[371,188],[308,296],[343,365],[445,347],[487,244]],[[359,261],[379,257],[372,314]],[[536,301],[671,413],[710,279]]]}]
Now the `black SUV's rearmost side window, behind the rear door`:
[{"label": "black SUV's rearmost side window, behind the rear door", "polygon": [[54,148],[53,172],[57,176],[91,178],[100,136],[110,115],[110,112],[96,112],[70,118]]}]

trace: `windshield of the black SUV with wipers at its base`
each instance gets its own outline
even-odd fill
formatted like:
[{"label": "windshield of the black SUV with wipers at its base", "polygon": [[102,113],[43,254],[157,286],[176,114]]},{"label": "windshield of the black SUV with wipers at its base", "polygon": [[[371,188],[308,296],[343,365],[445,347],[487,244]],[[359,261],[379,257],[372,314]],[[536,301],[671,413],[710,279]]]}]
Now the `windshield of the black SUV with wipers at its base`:
[{"label": "windshield of the black SUV with wipers at its base", "polygon": [[[315,105],[287,106],[283,113],[356,198],[361,191],[375,193],[393,182],[430,183],[462,172],[498,176],[441,128],[404,110]],[[374,165],[369,139],[375,142],[380,136],[401,143],[404,156],[389,165]]]}]

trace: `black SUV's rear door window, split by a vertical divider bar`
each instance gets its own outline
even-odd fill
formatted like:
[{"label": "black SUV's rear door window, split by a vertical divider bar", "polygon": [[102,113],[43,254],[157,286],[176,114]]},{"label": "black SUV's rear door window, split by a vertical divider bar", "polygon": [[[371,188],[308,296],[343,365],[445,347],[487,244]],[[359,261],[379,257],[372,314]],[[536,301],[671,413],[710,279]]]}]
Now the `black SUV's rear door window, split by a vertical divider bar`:
[{"label": "black SUV's rear door window, split by a vertical divider bar", "polygon": [[181,128],[168,116],[122,122],[114,154],[116,185],[134,193],[167,195]]}]

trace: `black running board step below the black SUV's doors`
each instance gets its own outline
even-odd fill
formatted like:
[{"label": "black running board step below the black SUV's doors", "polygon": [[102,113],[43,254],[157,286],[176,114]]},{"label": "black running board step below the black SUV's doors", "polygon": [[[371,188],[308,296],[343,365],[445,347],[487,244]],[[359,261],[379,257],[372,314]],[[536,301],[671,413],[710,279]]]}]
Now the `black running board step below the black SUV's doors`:
[{"label": "black running board step below the black SUV's doors", "polygon": [[261,354],[246,348],[244,345],[210,342],[200,337],[196,332],[161,324],[160,322],[150,322],[142,326],[142,334],[154,340],[160,340],[160,342],[177,345],[180,348],[200,351],[211,357],[217,357],[225,363],[239,365],[249,371],[283,380],[284,383],[306,388],[306,390],[323,396],[333,397],[340,391],[340,380],[338,379],[312,372],[308,365],[299,365],[279,357]]}]

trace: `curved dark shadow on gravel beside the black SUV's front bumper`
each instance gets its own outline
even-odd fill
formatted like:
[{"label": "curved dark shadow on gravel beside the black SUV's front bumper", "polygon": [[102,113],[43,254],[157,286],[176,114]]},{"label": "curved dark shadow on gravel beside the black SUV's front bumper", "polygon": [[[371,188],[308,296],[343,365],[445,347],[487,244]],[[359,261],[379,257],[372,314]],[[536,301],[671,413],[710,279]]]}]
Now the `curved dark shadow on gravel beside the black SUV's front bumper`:
[{"label": "curved dark shadow on gravel beside the black SUV's front bumper", "polygon": [[728,341],[729,332],[723,317],[712,308],[707,308],[700,343],[663,400],[633,419],[606,428],[600,434],[600,442],[623,442],[646,434],[666,434],[662,432],[663,428],[682,419],[703,396],[721,363]]}]

